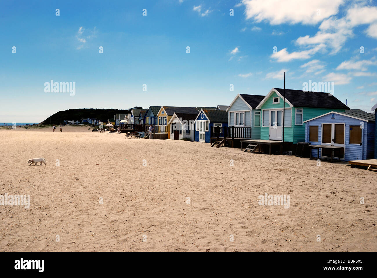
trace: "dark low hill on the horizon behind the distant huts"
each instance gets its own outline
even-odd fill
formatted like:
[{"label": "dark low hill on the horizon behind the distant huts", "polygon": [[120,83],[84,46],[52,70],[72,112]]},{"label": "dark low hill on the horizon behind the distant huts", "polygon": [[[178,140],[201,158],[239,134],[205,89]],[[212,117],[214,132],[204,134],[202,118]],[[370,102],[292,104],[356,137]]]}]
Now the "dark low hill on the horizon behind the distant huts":
[{"label": "dark low hill on the horizon behind the distant huts", "polygon": [[[131,113],[130,109],[119,110],[119,109],[93,109],[93,108],[82,108],[82,109],[68,109],[64,111],[59,111],[51,117],[48,117],[40,124],[63,124],[64,120],[75,120],[80,121],[80,118],[95,118],[103,122],[107,122],[107,119],[110,119],[110,122],[114,121],[115,114],[128,114]],[[79,118],[80,117],[80,118]]]}]

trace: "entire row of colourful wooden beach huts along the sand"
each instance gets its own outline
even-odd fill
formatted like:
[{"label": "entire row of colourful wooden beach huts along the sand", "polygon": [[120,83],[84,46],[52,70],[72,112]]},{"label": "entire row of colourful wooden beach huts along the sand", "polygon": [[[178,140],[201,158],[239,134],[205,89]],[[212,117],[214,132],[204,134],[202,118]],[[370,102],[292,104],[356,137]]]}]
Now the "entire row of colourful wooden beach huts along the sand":
[{"label": "entire row of colourful wooden beach huts along the sand", "polygon": [[305,142],[323,146],[311,150],[321,159],[377,159],[375,113],[350,109],[329,93],[273,88],[265,96],[238,94],[229,105],[216,107],[134,108],[130,114],[116,114],[115,125],[139,132],[152,125],[153,139],[241,149],[246,144],[245,151],[270,154],[282,150],[284,126],[284,150],[293,154]]}]

